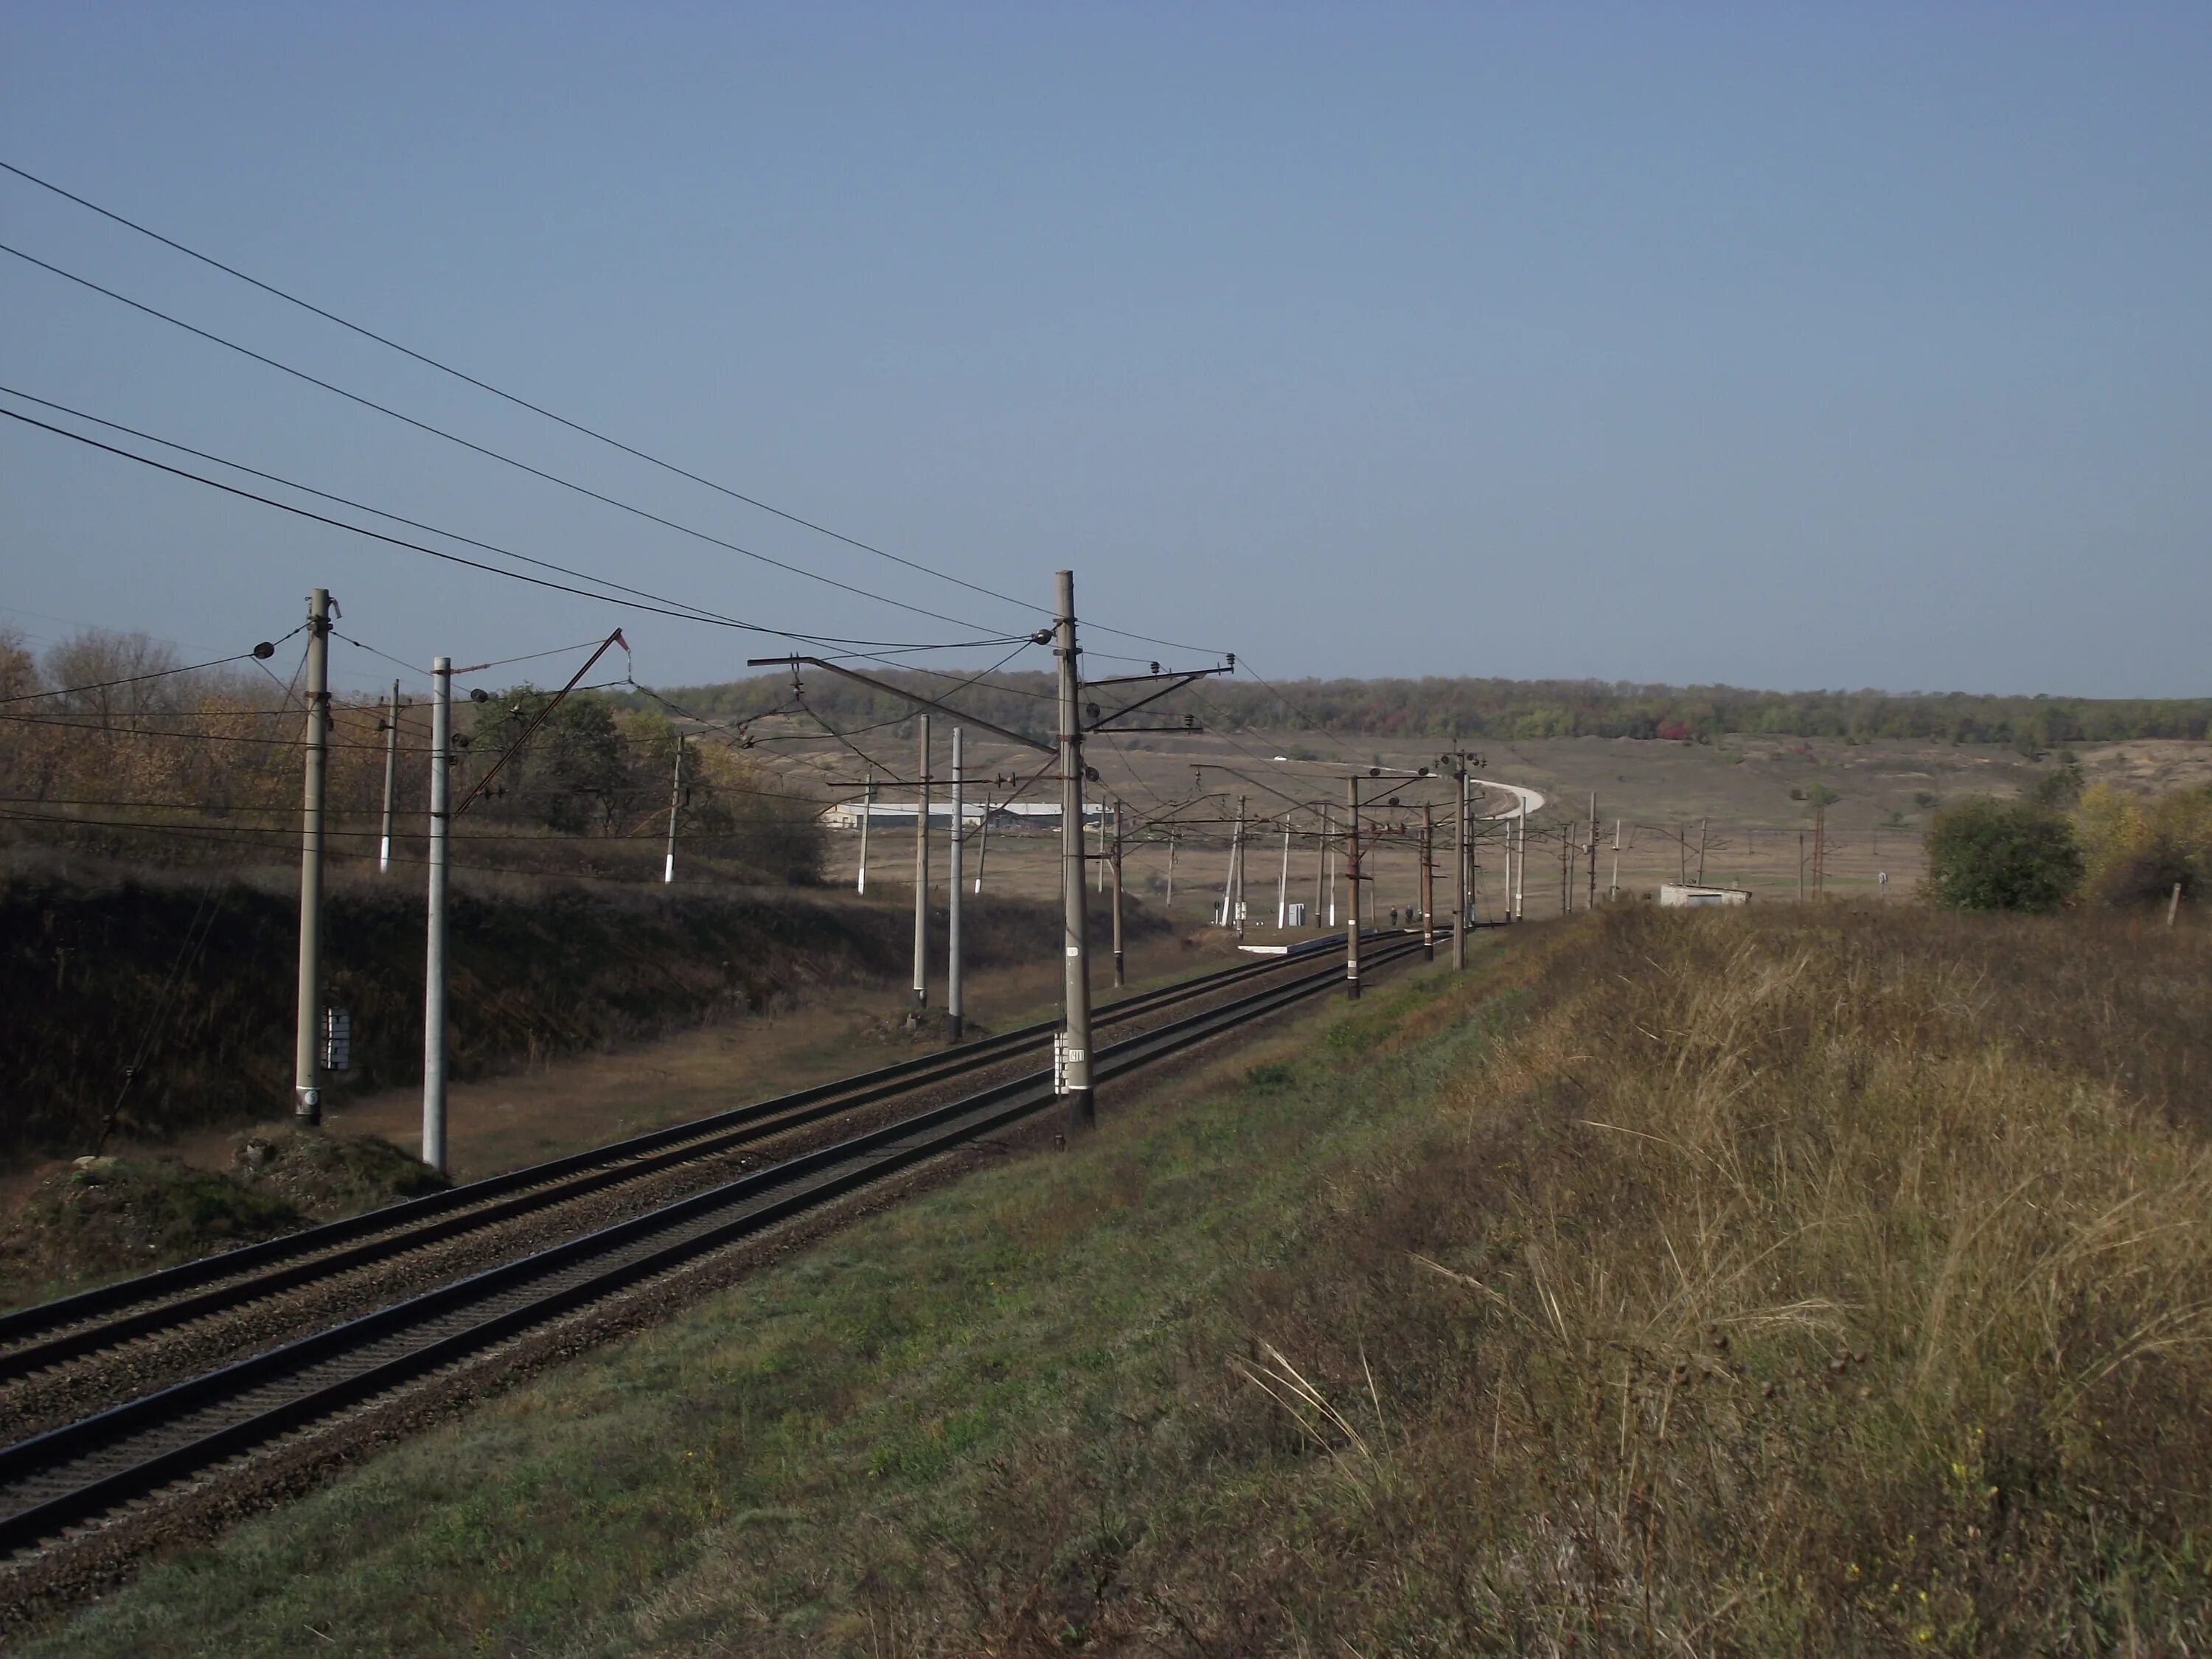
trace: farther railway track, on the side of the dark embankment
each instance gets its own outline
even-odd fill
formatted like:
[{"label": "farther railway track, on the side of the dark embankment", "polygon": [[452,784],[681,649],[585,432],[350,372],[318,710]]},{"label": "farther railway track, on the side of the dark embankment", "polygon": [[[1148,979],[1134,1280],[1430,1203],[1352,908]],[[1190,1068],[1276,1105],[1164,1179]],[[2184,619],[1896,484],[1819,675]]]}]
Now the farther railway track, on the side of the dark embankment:
[{"label": "farther railway track, on the side of the dark embankment", "polygon": [[[1155,991],[1141,991],[1106,1004],[1099,1013],[1104,1020],[1139,1018],[1267,971],[1281,971],[1285,960],[1296,960],[1336,940],[1307,940],[1294,947],[1290,958],[1241,962]],[[484,1177],[467,1186],[447,1188],[445,1192],[407,1199],[343,1221],[303,1228],[254,1245],[199,1256],[175,1267],[122,1279],[113,1285],[100,1285],[75,1296],[4,1314],[0,1316],[0,1383],[11,1383],[51,1365],[117,1347],[192,1318],[206,1318],[276,1296],[296,1285],[330,1279],[405,1250],[549,1210],[608,1186],[635,1181],[690,1159],[710,1157],[748,1139],[759,1139],[763,1133],[801,1128],[823,1117],[860,1110],[887,1097],[980,1071],[1024,1048],[1042,1048],[1055,1029],[1055,1022],[1040,1020],[945,1053],[900,1060],[854,1077],[838,1077],[708,1117],[646,1130],[608,1146]]]}]

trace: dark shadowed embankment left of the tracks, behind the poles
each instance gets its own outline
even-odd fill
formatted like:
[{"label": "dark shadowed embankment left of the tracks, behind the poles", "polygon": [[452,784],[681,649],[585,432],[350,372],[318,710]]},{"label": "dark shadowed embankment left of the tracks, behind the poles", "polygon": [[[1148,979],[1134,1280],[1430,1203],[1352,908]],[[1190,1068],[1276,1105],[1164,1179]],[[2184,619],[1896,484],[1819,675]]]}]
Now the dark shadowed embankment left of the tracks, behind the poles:
[{"label": "dark shadowed embankment left of the tracks, behind the poles", "polygon": [[[907,914],[832,894],[456,889],[456,1077],[794,1006],[823,984],[889,984],[911,960]],[[325,993],[354,1015],[352,1088],[422,1075],[420,907],[411,883],[369,878],[327,898]],[[1133,927],[1161,922],[1135,907]],[[1029,960],[1057,936],[1057,907],[975,902],[967,958],[975,971]],[[299,900],[281,878],[11,876],[0,940],[0,1159],[290,1110]]]}]

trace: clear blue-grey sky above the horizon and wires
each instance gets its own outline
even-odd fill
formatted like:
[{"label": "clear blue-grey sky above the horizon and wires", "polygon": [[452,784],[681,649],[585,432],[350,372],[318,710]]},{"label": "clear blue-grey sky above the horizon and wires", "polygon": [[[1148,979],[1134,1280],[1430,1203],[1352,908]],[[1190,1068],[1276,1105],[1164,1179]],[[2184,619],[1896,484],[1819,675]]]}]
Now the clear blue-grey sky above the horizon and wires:
[{"label": "clear blue-grey sky above the horizon and wires", "polygon": [[[2208,690],[2201,2],[18,0],[0,157],[907,557],[1037,604],[1073,564],[1084,613],[1270,677]],[[1033,626],[9,177],[0,239],[869,595]],[[4,257],[0,316],[0,383],[734,615],[958,637]],[[215,653],[314,582],[409,661],[622,619],[0,431],[0,624]],[[774,648],[630,637],[661,684]]]}]

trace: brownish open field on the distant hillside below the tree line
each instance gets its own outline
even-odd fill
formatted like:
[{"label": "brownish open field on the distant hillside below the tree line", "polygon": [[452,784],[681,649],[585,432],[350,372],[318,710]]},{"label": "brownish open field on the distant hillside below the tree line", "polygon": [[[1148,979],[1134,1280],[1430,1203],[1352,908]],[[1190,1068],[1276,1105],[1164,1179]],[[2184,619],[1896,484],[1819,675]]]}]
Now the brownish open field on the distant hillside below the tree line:
[{"label": "brownish open field on the distant hillside below the tree line", "polygon": [[[940,745],[942,748],[942,745]],[[1296,827],[1290,854],[1292,900],[1314,900],[1316,807],[1329,805],[1343,823],[1343,772],[1352,765],[1413,770],[1436,768],[1444,739],[1407,741],[1327,739],[1312,732],[1234,732],[1190,737],[1121,739],[1091,745],[1102,772],[1093,794],[1128,805],[1130,825],[1168,818],[1192,825],[1181,834],[1175,865],[1175,918],[1203,927],[1221,898],[1228,869],[1228,825],[1239,796],[1254,821],[1274,818],[1270,832],[1254,832],[1245,889],[1252,922],[1274,936],[1274,900],[1283,872],[1281,818]],[[2020,794],[2048,776],[2055,761],[2028,761],[1995,745],[1958,743],[1845,743],[1838,739],[1728,737],[1721,743],[1668,743],[1652,739],[1537,739],[1486,743],[1484,774],[1542,790],[1546,807],[1531,821],[1535,834],[1586,823],[1597,796],[1599,856],[1597,889],[1615,883],[1613,838],[1619,825],[1619,887],[1655,891],[1663,880],[1699,876],[1750,887],[1765,898],[1796,898],[1801,836],[1809,847],[1812,796],[1829,790],[1827,889],[1832,896],[1909,898],[1922,874],[1920,836],[1931,812],[1966,794]],[[883,752],[911,765],[896,743]],[[982,776],[1013,776],[1035,770],[1035,757],[1011,743],[978,737],[969,745],[969,768]],[[1283,757],[1276,761],[1276,757]],[[858,790],[836,790],[827,781],[852,774],[852,754],[836,748],[785,750],[779,761],[787,776],[807,781],[825,799],[858,799]],[[942,765],[942,754],[940,761]],[[2212,781],[2212,743],[2139,741],[2084,745],[2079,763],[2086,781],[2110,781],[2130,790],[2170,790]],[[1037,785],[1040,790],[1044,785]],[[1803,799],[1794,799],[1796,792]],[[971,787],[971,799],[978,790]],[[1449,825],[1451,787],[1442,781],[1367,781],[1363,801],[1398,796],[1405,805],[1378,805],[1374,818],[1420,823],[1420,805],[1431,803]],[[885,785],[885,801],[909,799]],[[993,799],[1004,799],[1004,790]],[[1024,799],[1040,799],[1033,790]],[[942,783],[938,785],[942,801]],[[1294,803],[1305,803],[1303,810]],[[1478,812],[1511,810],[1511,796],[1491,790]],[[1502,902],[1500,830],[1486,825],[1478,843],[1475,914],[1489,918]],[[869,858],[880,874],[902,878],[911,869],[911,832],[876,830]],[[1057,891],[1060,838],[1053,832],[993,832],[987,849],[987,885],[1031,898]],[[942,841],[938,847],[942,869]],[[971,843],[973,867],[973,843]],[[849,883],[858,863],[858,834],[830,836],[830,872]],[[1418,898],[1418,856],[1402,836],[1380,836],[1369,845],[1367,872],[1376,878],[1374,900],[1411,907]],[[1133,838],[1124,865],[1130,891],[1166,902],[1168,852],[1159,838]],[[1887,874],[1887,885],[1880,876]],[[1590,867],[1577,860],[1575,907],[1588,894]],[[1440,865],[1438,907],[1449,909],[1449,858]],[[1340,860],[1336,889],[1343,891]],[[1559,845],[1533,845],[1524,880],[1528,916],[1559,914]]]}]

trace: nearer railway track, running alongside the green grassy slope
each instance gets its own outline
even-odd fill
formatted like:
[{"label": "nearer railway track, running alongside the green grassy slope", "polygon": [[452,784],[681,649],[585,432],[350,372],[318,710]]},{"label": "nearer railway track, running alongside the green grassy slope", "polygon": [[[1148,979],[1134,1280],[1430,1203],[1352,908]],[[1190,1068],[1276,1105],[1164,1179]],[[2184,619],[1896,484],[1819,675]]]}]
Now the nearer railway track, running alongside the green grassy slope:
[{"label": "nearer railway track, running alongside the green grassy slope", "polygon": [[[1418,940],[1407,938],[1383,947],[1374,960],[1400,960],[1416,949]],[[1336,982],[1334,969],[1323,969],[1124,1037],[1099,1051],[1097,1075],[1124,1075]],[[7,1493],[0,1502],[13,1498],[15,1504],[0,1515],[0,1553],[20,1553],[281,1433],[971,1144],[1053,1099],[1051,1075],[991,1084],[0,1449],[0,1493]],[[593,1265],[595,1259],[611,1261]],[[422,1340],[407,1345],[409,1332]],[[378,1354],[378,1347],[392,1352]],[[281,1398],[261,1405],[254,1394]]]}]

